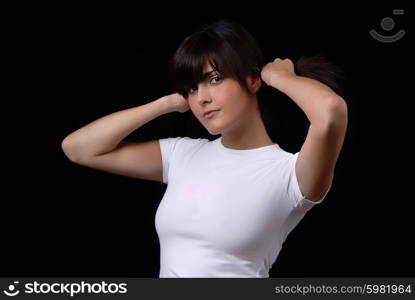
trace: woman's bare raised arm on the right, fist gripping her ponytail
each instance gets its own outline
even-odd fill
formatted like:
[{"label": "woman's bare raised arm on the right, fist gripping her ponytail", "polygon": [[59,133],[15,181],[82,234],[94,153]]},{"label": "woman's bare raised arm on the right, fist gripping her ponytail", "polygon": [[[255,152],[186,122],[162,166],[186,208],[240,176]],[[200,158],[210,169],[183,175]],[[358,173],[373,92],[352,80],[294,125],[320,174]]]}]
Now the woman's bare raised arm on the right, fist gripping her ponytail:
[{"label": "woman's bare raised arm on the right, fist gripping her ponytail", "polygon": [[295,170],[303,196],[320,200],[334,177],[334,168],[347,130],[347,105],[325,84],[294,73],[290,59],[264,66],[262,80],[290,97],[310,121]]}]

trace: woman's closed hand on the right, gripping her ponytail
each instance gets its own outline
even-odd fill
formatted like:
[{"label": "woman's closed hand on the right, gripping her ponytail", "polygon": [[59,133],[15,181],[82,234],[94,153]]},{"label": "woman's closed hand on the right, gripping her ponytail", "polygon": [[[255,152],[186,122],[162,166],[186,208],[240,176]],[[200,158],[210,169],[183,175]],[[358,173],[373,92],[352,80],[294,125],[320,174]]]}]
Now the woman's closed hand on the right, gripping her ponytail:
[{"label": "woman's closed hand on the right, gripping her ponytail", "polygon": [[295,76],[294,63],[289,58],[276,58],[261,70],[261,78],[267,85],[275,86],[283,76]]}]

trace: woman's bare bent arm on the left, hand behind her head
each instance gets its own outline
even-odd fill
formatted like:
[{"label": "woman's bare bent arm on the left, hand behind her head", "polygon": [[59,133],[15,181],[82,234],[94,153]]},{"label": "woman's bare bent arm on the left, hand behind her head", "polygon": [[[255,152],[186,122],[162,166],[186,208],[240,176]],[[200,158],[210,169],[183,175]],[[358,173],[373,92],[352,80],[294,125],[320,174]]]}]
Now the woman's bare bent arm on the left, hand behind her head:
[{"label": "woman's bare bent arm on the left, hand behind her head", "polygon": [[162,182],[162,160],[158,140],[123,141],[134,130],[156,117],[189,108],[179,94],[118,111],[72,132],[62,141],[65,155],[74,163],[105,172]]}]

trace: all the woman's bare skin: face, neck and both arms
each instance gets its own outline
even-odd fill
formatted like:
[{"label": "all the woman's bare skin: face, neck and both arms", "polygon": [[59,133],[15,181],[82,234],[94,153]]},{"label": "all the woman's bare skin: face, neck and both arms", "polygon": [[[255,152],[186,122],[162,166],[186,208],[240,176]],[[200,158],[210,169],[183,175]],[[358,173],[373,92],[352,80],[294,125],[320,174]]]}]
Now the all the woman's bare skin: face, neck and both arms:
[{"label": "all the woman's bare skin: face, neck and both arms", "polygon": [[[213,71],[209,65],[205,72]],[[249,92],[236,80],[210,74],[192,88],[187,99],[179,94],[119,111],[71,133],[62,142],[74,162],[116,174],[162,181],[160,148],[156,141],[121,142],[129,133],[156,116],[192,109],[211,134],[222,134],[225,147],[255,149],[273,142],[262,123],[255,93],[261,79],[291,98],[310,121],[307,137],[295,165],[301,193],[318,201],[331,185],[334,168],[347,130],[346,102],[319,81],[297,76],[289,59],[275,59],[261,70],[261,79],[247,78]],[[220,109],[212,118],[203,114]],[[141,155],[139,155],[141,153]]]}]

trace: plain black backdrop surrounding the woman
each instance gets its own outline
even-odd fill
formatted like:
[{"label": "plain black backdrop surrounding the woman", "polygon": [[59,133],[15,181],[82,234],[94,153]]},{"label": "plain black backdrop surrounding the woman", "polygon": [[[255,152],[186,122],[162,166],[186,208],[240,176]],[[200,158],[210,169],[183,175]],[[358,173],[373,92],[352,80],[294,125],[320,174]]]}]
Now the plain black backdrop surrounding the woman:
[{"label": "plain black backdrop surrounding the woman", "polygon": [[[166,185],[75,165],[61,142],[99,117],[170,93],[175,49],[223,17],[242,23],[270,61],[319,53],[345,71],[349,126],[332,190],[289,235],[270,276],[413,276],[411,12],[392,15],[405,8],[256,1],[10,11],[0,275],[158,277],[154,216]],[[384,17],[395,21],[390,32]],[[371,29],[407,33],[388,44]],[[264,94],[270,137],[298,151],[305,115],[278,91]],[[128,139],[173,136],[217,137],[188,112],[160,116]]]}]

